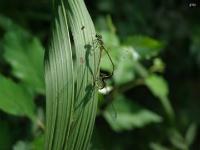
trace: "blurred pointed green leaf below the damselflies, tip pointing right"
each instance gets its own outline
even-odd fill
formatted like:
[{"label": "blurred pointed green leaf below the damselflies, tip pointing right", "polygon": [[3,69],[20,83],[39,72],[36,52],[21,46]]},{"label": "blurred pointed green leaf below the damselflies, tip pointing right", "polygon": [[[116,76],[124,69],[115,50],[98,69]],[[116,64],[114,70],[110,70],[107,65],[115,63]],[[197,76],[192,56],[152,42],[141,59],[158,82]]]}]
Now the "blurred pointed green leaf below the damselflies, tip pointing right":
[{"label": "blurred pointed green leaf below the damselflies, tip pointing right", "polygon": [[[150,123],[159,123],[162,121],[162,118],[157,114],[139,107],[123,96],[117,96],[113,102],[113,107],[114,109],[109,107],[104,112],[104,117],[111,128],[117,132],[142,128]],[[116,118],[112,116],[113,111],[117,113]]]}]

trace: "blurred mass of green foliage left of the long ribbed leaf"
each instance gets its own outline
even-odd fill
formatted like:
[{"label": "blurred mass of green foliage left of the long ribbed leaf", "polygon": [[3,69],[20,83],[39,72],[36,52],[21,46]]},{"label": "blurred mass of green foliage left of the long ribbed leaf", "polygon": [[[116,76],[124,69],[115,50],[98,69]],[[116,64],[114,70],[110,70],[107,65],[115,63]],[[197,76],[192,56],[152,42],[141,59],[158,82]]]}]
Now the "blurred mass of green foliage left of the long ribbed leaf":
[{"label": "blurred mass of green foliage left of the long ribbed leaf", "polygon": [[[37,118],[34,97],[36,93],[44,93],[43,46],[38,38],[6,17],[0,16],[0,26],[5,32],[1,41],[3,58],[11,65],[12,76],[19,80],[16,82],[11,77],[0,74],[0,109],[10,115],[28,117],[38,130],[39,126],[44,125]],[[3,125],[4,121],[0,120],[0,124]],[[1,135],[4,136],[0,141],[9,138],[8,141],[0,143],[0,148],[5,150],[11,149],[16,138],[9,135],[17,133],[10,131],[10,126],[7,127],[8,129],[0,128]],[[23,148],[27,149],[23,141],[14,147]]]}]

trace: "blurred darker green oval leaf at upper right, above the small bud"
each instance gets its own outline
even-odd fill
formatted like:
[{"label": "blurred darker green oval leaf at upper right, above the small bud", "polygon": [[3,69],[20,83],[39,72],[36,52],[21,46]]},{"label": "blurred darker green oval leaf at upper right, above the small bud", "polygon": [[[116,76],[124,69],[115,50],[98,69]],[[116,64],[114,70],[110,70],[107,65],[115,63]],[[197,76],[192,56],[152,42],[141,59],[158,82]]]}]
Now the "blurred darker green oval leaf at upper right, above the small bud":
[{"label": "blurred darker green oval leaf at upper right, above the small bud", "polygon": [[142,59],[158,55],[163,48],[162,43],[146,36],[131,36],[125,41],[125,45],[133,46]]}]

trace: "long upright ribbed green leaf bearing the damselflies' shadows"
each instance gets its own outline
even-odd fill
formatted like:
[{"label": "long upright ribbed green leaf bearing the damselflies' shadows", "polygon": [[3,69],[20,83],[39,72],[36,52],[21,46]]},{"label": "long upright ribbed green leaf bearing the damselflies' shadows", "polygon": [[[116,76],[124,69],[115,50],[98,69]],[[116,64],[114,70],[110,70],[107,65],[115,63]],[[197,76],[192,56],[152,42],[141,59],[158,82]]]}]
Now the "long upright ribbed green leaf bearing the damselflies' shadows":
[{"label": "long upright ribbed green leaf bearing the damselflies' shadows", "polygon": [[86,150],[98,103],[93,85],[99,73],[99,51],[92,45],[96,32],[82,0],[52,2],[53,34],[45,57],[45,149]]}]

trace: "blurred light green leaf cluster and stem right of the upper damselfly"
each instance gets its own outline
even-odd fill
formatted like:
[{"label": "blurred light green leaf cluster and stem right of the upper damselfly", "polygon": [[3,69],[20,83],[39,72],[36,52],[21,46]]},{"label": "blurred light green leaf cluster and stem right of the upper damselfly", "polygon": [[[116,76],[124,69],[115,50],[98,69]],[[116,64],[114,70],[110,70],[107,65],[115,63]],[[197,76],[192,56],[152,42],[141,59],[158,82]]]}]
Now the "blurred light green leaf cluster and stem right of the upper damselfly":
[{"label": "blurred light green leaf cluster and stem right of the upper damselfly", "polygon": [[[174,112],[168,99],[168,85],[161,76],[152,74],[152,71],[160,71],[160,68],[162,68],[161,62],[159,62],[160,64],[158,64],[158,62],[157,64],[154,63],[150,69],[146,68],[141,63],[141,60],[146,60],[158,55],[163,45],[157,40],[142,36],[138,37],[138,40],[136,38],[137,36],[132,37],[130,38],[132,40],[128,39],[124,45],[120,45],[120,41],[114,33],[108,32],[105,34],[103,32],[102,35],[105,36],[105,44],[110,49],[110,55],[115,63],[113,79],[116,86],[122,87],[130,83],[130,87],[132,87],[144,83],[155,97],[161,101],[167,116],[172,121]],[[108,39],[110,39],[110,41]],[[107,55],[104,54],[101,67],[103,70],[111,72],[112,65],[109,61]],[[156,58],[155,61],[158,61],[158,58]]]}]

